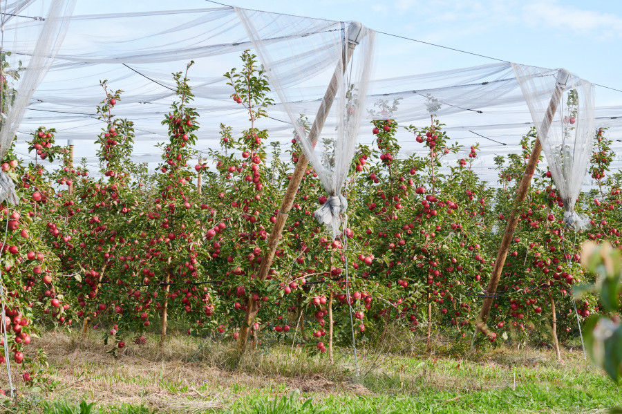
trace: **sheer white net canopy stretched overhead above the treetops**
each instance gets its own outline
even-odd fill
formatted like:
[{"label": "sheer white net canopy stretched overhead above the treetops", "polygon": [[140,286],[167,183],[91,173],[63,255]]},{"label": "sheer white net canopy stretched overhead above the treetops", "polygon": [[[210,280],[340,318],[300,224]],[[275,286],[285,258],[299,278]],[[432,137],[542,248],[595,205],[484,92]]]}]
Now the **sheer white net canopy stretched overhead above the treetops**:
[{"label": "sheer white net canopy stretched overhead above the treetops", "polygon": [[[134,5],[127,6],[130,7]],[[234,133],[243,131],[247,124],[247,113],[231,100],[232,89],[223,76],[239,66],[239,55],[247,49],[261,57],[270,69],[281,70],[271,74],[276,104],[268,109],[270,118],[261,120],[261,128],[270,131],[271,140],[288,143],[294,135],[304,136],[297,124],[300,115],[307,117],[310,126],[317,117],[328,81],[339,62],[334,59],[342,53],[344,30],[350,26],[349,22],[229,7],[149,11],[135,7],[135,12],[70,17],[66,41],[32,95],[19,126],[18,153],[28,156],[23,144],[26,134],[41,125],[55,127],[57,139],[75,140],[76,158],[85,157],[88,167],[96,170],[97,158],[91,142],[102,124],[96,119],[95,105],[104,97],[99,81],[108,79],[111,87],[125,91],[115,106],[115,115],[135,124],[133,160],[151,163],[150,167],[155,168],[160,151],[154,145],[167,140],[162,116],[174,100],[171,73],[185,68],[190,59],[196,62],[189,78],[202,126],[197,148],[207,151],[217,147],[220,122],[234,126]],[[250,34],[245,16],[255,26]],[[37,27],[41,21],[23,19],[21,24]],[[436,49],[431,52],[431,46],[415,47],[406,40],[378,33],[373,37],[378,57],[375,71],[368,68],[367,75],[357,72],[358,59],[363,59],[357,54],[370,56],[372,51],[361,52],[366,48],[364,44],[356,46],[351,61],[352,73],[360,79],[368,76],[369,82],[365,93],[357,93],[360,110],[356,117],[360,119],[350,124],[348,131],[357,126],[358,142],[370,144],[374,139],[370,120],[390,117],[401,126],[422,125],[429,122],[430,115],[437,115],[451,139],[466,147],[455,158],[464,158],[470,144],[480,142],[480,156],[473,168],[478,169],[483,180],[494,184],[498,175],[493,158],[519,151],[520,138],[534,125],[512,65],[473,60],[474,66],[469,68],[452,68],[451,55],[440,55]],[[393,55],[388,52],[388,45]],[[28,56],[28,48],[21,44],[10,48],[16,55]],[[413,53],[421,55],[424,62],[435,63],[404,67],[395,57],[395,50],[397,55]],[[263,56],[268,53],[269,56]],[[556,70],[534,70],[549,73],[548,77],[555,79]],[[547,93],[540,91],[534,96],[547,102],[551,97]],[[339,96],[335,102],[333,111],[339,108]],[[622,106],[597,107],[595,115],[596,126],[609,127],[614,141],[622,140]],[[329,114],[322,133],[335,136],[340,122],[341,118]],[[398,156],[423,154],[424,148],[415,142],[413,134],[398,129],[397,138],[402,147]],[[323,140],[319,142],[322,145]],[[312,158],[312,153],[320,148],[305,153]],[[615,145],[613,149],[617,149]],[[612,167],[619,167],[621,162],[622,159],[614,160]],[[583,183],[590,185],[590,179],[585,178]]]}]

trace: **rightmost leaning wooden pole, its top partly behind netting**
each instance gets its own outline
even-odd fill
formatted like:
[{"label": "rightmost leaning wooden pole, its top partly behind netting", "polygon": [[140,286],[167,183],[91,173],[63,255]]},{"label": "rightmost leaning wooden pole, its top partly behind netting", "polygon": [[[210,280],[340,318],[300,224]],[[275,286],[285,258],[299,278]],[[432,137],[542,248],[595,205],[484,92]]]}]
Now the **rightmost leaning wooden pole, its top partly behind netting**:
[{"label": "rightmost leaning wooden pole, its top partly behind netting", "polygon": [[[553,121],[553,117],[557,111],[557,106],[563,95],[564,88],[569,76],[570,73],[567,70],[559,70],[555,90],[553,92],[553,96],[551,97],[551,101],[549,102],[549,107],[545,115],[545,124],[547,125],[547,128],[546,131],[543,131],[544,135],[547,135],[548,133],[548,126],[550,126],[551,122]],[[540,139],[546,139],[546,136],[536,137],[536,144],[534,144],[534,148],[531,150],[531,155],[529,156],[529,161],[527,162],[527,167],[525,168],[525,173],[523,173],[522,180],[520,180],[520,185],[518,186],[518,194],[516,195],[516,201],[514,202],[514,207],[507,222],[505,234],[503,234],[501,245],[499,246],[499,251],[497,253],[497,258],[495,261],[495,267],[493,267],[493,271],[490,275],[490,281],[488,283],[488,288],[486,290],[487,297],[484,298],[484,303],[482,304],[480,316],[478,317],[477,323],[475,323],[477,331],[479,332],[484,332],[484,330],[486,329],[486,319],[490,314],[490,309],[492,307],[494,299],[493,295],[497,292],[497,286],[499,285],[501,272],[503,270],[503,266],[505,265],[505,259],[507,258],[507,251],[514,236],[514,230],[516,230],[516,225],[518,225],[517,210],[527,197],[527,190],[529,189],[529,185],[531,185],[531,177],[534,175],[536,165],[538,164],[538,160],[540,159],[540,153],[542,152],[542,144],[540,143]]]}]

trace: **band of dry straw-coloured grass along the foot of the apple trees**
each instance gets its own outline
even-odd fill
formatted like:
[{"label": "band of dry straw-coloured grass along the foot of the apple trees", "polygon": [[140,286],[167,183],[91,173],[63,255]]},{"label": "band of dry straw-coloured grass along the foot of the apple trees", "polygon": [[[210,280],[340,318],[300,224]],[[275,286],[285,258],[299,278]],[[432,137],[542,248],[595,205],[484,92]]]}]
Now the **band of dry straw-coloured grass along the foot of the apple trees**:
[{"label": "band of dry straw-coloured grass along the foot of the apple trees", "polygon": [[[117,358],[105,351],[102,339],[91,332],[46,333],[38,339],[48,355],[48,378],[59,386],[46,399],[79,401],[99,406],[145,404],[161,413],[199,413],[227,408],[257,395],[272,398],[299,389],[318,398],[329,396],[415,395],[450,391],[470,393],[516,389],[529,375],[568,372],[569,379],[590,373],[581,352],[565,351],[562,366],[549,350],[500,348],[480,353],[437,358],[424,354],[421,341],[386,332],[386,339],[359,349],[360,377],[350,350],[337,350],[335,364],[325,355],[272,345],[251,350],[237,363],[235,345],[173,335],[164,347],[156,336],[147,344],[129,344]],[[413,346],[413,344],[415,344]],[[574,378],[573,377],[573,378]]]}]

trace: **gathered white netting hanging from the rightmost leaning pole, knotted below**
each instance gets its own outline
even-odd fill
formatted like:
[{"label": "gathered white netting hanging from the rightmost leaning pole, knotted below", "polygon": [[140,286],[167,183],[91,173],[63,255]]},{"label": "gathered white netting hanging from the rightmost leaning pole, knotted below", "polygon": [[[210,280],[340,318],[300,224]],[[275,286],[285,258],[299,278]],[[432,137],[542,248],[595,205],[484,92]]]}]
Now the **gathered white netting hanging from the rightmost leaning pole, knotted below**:
[{"label": "gathered white netting hanging from the rightmost leaning pole, knotted below", "polygon": [[594,85],[565,69],[513,64],[549,170],[565,207],[564,222],[574,229],[589,219],[574,211],[594,142]]}]

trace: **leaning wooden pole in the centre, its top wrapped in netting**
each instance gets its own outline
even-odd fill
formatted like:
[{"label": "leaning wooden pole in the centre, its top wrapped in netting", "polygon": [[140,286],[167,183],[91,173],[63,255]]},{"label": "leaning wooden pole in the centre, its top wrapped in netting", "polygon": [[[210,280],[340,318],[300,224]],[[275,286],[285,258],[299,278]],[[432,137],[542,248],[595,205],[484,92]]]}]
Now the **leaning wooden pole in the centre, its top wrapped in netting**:
[{"label": "leaning wooden pole in the centre, its top wrapped in netting", "polygon": [[[351,30],[350,28],[352,28],[352,25],[358,25],[354,26],[355,29],[358,30]],[[317,115],[315,117],[313,125],[311,126],[311,130],[309,131],[308,140],[313,146],[315,146],[315,143],[317,142],[319,133],[321,132],[324,126],[324,122],[326,122],[326,118],[328,117],[328,113],[330,112],[332,102],[334,102],[334,97],[335,95],[337,95],[340,79],[343,77],[346,66],[348,66],[348,62],[350,62],[352,53],[354,53],[354,49],[358,44],[359,35],[361,35],[362,33],[361,23],[350,23],[347,32],[348,39],[346,42],[346,51],[342,58],[343,62],[340,62],[339,65],[337,65],[337,68],[332,75],[332,79],[330,79],[330,83],[328,84],[328,88],[326,89],[326,93],[324,94],[322,104],[317,111]],[[276,253],[276,247],[279,246],[281,234],[283,234],[283,229],[285,228],[285,221],[287,221],[288,214],[290,213],[292,205],[294,204],[294,198],[296,198],[298,187],[300,187],[300,183],[305,176],[305,171],[307,169],[308,163],[309,160],[307,156],[302,153],[301,156],[298,158],[298,162],[296,163],[296,169],[294,169],[294,173],[290,178],[288,189],[287,191],[285,191],[285,196],[283,197],[283,201],[281,202],[279,214],[276,215],[276,221],[274,222],[274,226],[272,227],[272,232],[270,232],[270,238],[268,239],[268,251],[267,254],[265,254],[265,256],[263,257],[261,261],[261,266],[259,267],[258,279],[260,281],[265,280],[268,272],[270,272],[272,260],[274,259],[274,254]],[[242,323],[240,337],[238,339],[238,349],[240,350],[240,352],[244,352],[246,348],[248,331],[255,319],[255,314],[258,310],[257,305],[258,304],[253,299],[253,295],[250,294],[248,302],[246,304],[246,314],[244,322]]]}]

